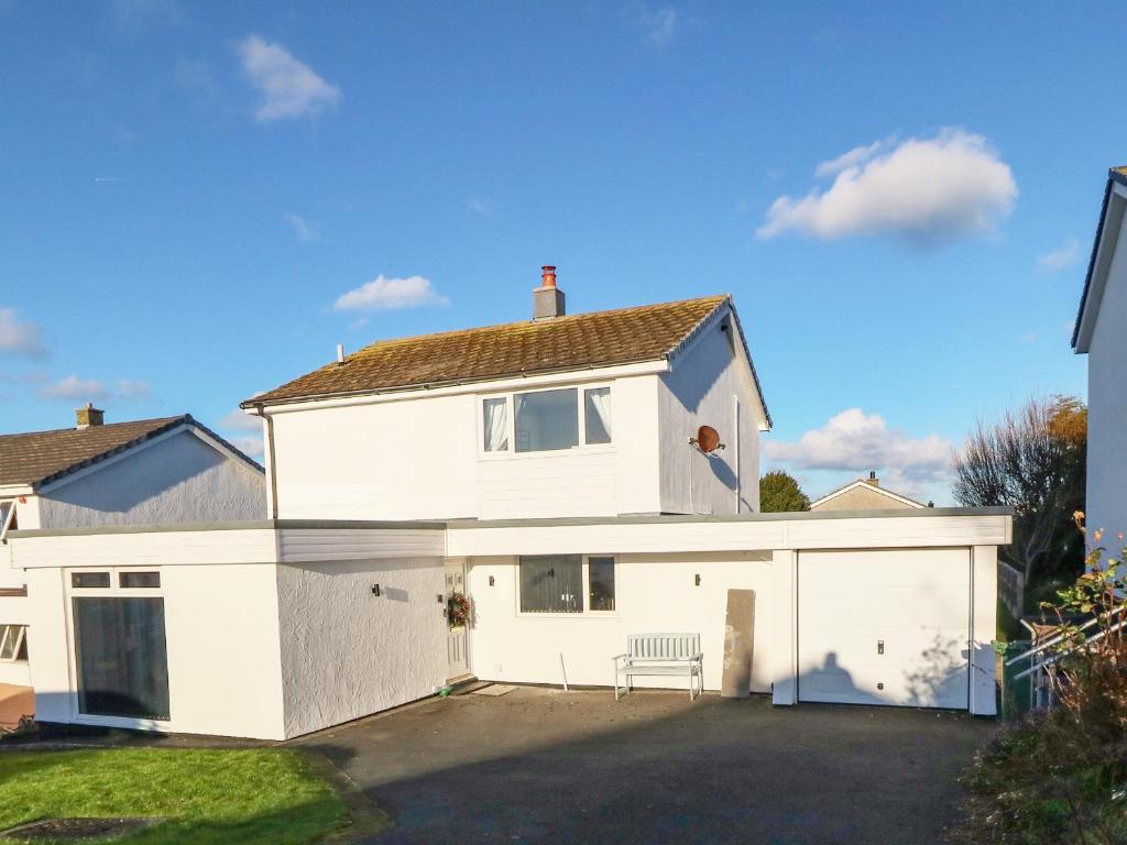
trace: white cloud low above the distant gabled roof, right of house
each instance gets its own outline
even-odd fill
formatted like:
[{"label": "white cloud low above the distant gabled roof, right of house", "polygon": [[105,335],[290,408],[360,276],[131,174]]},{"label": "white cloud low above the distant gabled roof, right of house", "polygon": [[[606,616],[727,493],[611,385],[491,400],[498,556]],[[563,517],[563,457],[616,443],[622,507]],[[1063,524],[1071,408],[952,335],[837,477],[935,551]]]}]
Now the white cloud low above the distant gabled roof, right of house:
[{"label": "white cloud low above the distant gabled roof, right of house", "polygon": [[951,465],[951,442],[931,434],[913,438],[888,428],[879,413],[850,408],[826,425],[804,434],[797,442],[769,441],[772,461],[801,470],[878,470],[913,482],[943,480]]}]

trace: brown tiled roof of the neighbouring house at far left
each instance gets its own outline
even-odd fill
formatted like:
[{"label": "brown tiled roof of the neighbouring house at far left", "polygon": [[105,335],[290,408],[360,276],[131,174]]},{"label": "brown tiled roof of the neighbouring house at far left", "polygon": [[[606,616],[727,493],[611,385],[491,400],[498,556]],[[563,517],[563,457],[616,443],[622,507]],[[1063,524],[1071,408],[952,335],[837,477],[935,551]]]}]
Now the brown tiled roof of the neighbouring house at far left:
[{"label": "brown tiled roof of the neighbouring house at far left", "polygon": [[255,461],[193,419],[190,413],[88,428],[0,435],[0,486],[41,487],[105,461],[179,426],[198,428],[236,456]]}]

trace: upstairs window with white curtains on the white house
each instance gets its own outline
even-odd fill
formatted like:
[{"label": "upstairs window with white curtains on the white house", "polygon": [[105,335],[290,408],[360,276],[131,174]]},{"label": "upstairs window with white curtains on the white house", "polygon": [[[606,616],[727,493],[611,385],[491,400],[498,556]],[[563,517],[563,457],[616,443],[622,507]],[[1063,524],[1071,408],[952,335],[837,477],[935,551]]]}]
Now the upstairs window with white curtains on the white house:
[{"label": "upstairs window with white curtains on the white house", "polygon": [[561,388],[481,400],[481,451],[561,452],[612,442],[611,389]]}]

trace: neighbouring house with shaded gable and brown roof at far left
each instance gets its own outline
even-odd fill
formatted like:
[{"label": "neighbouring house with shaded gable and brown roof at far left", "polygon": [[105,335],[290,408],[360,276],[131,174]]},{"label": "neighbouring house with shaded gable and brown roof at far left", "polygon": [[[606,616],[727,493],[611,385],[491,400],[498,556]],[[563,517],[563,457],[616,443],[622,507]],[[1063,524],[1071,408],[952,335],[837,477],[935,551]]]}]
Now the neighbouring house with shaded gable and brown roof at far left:
[{"label": "neighbouring house with shaded gable and brown roof at far left", "polygon": [[0,684],[29,685],[35,652],[11,532],[261,518],[265,489],[261,466],[188,415],[105,425],[87,406],[74,428],[0,435]]}]

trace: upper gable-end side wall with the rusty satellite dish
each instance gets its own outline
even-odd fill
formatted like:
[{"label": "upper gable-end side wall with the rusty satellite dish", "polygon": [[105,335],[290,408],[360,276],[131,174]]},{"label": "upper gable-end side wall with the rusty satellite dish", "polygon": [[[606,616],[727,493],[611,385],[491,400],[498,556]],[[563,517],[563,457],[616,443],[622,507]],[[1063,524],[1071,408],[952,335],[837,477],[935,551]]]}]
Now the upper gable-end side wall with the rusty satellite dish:
[{"label": "upper gable-end side wall with the rusty satellite dish", "polygon": [[[710,327],[673,372],[660,376],[662,510],[674,514],[760,509],[760,435],[755,398],[742,365],[719,323]],[[739,398],[739,466],[735,448],[735,398]],[[689,445],[702,425],[720,433],[727,445],[706,457]]]}]

